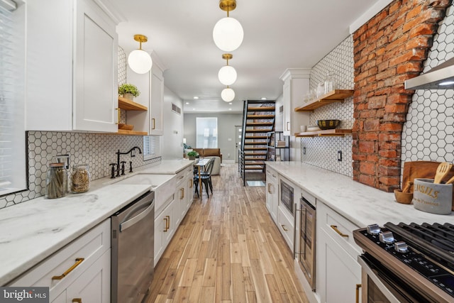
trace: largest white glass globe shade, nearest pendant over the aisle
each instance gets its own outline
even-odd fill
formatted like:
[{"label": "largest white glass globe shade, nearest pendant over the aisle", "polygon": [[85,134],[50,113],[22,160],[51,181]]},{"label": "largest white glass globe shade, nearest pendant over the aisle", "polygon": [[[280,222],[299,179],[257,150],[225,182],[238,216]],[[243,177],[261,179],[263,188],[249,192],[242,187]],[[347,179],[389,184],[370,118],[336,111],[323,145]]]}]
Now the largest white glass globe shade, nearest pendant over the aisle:
[{"label": "largest white glass globe shade, nearest pendant over the aisle", "polygon": [[243,43],[243,26],[236,18],[226,17],[219,20],[213,29],[214,44],[225,52],[231,52]]}]

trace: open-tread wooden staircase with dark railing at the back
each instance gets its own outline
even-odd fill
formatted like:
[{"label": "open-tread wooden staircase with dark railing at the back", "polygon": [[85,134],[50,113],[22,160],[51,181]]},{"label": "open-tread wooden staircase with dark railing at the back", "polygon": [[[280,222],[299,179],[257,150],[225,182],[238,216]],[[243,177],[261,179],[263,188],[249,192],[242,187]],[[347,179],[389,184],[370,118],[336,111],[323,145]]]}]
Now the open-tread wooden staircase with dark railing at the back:
[{"label": "open-tread wooden staircase with dark railing at the back", "polygon": [[275,101],[246,100],[243,106],[243,128],[238,170],[243,178],[263,179],[267,160],[267,133],[275,129]]}]

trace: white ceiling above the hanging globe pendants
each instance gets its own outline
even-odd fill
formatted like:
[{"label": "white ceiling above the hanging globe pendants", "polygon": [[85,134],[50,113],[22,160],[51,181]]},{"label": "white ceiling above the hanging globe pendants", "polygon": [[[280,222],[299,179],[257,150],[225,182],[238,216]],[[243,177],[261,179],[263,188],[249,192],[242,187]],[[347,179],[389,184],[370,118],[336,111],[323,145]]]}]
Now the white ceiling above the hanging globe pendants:
[{"label": "white ceiling above the hanging globe pendants", "polygon": [[230,16],[242,24],[244,40],[229,60],[238,79],[228,104],[217,76],[224,52],[212,38],[214,24],[226,17],[218,0],[111,0],[127,20],[117,28],[119,45],[128,54],[138,48],[133,35],[146,35],[142,48],[165,68],[165,86],[184,100],[184,112],[197,113],[241,112],[245,99],[277,99],[284,70],[316,65],[378,1],[237,0]]}]

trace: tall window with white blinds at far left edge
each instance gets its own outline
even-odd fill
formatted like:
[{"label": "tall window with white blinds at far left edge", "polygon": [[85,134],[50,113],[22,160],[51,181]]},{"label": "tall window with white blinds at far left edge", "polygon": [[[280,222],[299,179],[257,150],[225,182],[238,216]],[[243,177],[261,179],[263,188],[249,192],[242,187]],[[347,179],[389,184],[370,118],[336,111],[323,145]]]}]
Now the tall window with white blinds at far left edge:
[{"label": "tall window with white blinds at far left edge", "polygon": [[0,0],[0,196],[27,188],[25,7]]}]

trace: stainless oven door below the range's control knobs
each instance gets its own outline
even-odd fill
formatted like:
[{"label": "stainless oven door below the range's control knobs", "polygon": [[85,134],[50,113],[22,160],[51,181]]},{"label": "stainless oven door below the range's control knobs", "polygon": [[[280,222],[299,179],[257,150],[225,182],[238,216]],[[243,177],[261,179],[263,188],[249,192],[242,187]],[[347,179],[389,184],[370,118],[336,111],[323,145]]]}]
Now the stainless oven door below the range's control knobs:
[{"label": "stainless oven door below the range's control knobs", "polygon": [[362,303],[436,302],[409,287],[370,255],[358,256],[358,263],[362,271]]}]

